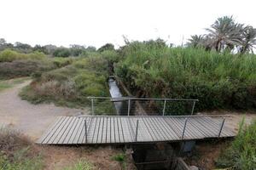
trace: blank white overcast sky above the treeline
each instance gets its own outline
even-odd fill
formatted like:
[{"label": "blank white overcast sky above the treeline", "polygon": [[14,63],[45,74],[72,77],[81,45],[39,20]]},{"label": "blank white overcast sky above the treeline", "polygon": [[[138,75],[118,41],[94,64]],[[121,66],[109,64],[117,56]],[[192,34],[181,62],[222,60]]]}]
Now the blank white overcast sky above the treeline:
[{"label": "blank white overcast sky above the treeline", "polygon": [[93,45],[157,37],[180,45],[220,16],[256,27],[255,0],[0,0],[8,42]]}]

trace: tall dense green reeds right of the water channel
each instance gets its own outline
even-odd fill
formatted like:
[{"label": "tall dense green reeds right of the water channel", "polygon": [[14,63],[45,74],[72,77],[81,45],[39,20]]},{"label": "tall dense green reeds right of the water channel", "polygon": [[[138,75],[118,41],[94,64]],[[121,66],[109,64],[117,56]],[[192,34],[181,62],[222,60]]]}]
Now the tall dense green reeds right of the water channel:
[{"label": "tall dense green reeds right of the water channel", "polygon": [[255,108],[256,57],[202,48],[131,42],[120,51],[116,74],[147,97],[199,99],[199,110]]}]

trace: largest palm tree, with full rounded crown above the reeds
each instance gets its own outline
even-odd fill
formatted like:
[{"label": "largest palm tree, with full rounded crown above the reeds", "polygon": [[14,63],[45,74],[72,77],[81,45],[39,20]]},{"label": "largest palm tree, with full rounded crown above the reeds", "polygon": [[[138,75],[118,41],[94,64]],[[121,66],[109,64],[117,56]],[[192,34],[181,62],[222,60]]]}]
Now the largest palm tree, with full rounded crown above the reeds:
[{"label": "largest palm tree, with full rounded crown above the reeds", "polygon": [[232,16],[218,18],[212,24],[211,29],[207,29],[212,48],[215,48],[216,51],[234,48],[241,42],[242,27],[243,25],[235,23]]}]

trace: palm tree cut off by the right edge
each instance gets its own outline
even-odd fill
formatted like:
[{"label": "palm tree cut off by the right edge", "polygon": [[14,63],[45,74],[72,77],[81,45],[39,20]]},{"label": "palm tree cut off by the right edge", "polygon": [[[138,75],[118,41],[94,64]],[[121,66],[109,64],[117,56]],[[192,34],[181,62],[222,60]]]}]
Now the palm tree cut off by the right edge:
[{"label": "palm tree cut off by the right edge", "polygon": [[253,26],[246,26],[242,31],[243,40],[241,42],[240,52],[253,52],[253,45],[256,45],[256,29]]}]

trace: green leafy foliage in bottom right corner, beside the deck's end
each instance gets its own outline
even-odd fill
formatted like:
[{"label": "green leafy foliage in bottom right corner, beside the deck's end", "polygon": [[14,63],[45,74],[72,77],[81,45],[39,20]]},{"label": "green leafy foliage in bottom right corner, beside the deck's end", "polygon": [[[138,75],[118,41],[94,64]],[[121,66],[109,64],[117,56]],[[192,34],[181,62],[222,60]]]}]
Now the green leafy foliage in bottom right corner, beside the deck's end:
[{"label": "green leafy foliage in bottom right corner, beside the deck's end", "polygon": [[256,120],[249,127],[240,130],[230,148],[224,150],[217,160],[217,167],[232,167],[238,170],[253,170],[256,167]]}]

